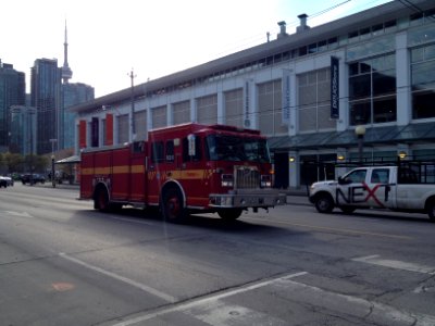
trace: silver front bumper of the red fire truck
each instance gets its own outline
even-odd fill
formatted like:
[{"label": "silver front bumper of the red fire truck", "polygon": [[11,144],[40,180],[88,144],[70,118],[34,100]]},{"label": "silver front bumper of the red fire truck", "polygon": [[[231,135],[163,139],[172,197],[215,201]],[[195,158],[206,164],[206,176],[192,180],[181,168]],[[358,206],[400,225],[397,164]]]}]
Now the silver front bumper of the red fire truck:
[{"label": "silver front bumper of the red fire truck", "polygon": [[286,195],[275,189],[233,190],[228,193],[211,193],[210,206],[221,209],[273,208],[286,203]]}]

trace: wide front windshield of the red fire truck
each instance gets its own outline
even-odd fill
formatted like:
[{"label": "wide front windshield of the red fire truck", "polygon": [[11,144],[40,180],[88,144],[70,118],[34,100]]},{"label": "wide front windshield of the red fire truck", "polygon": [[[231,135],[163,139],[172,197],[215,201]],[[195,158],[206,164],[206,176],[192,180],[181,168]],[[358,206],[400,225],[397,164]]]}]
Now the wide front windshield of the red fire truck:
[{"label": "wide front windshield of the red fire truck", "polygon": [[269,163],[268,142],[261,138],[209,135],[206,147],[210,161],[249,161]]}]

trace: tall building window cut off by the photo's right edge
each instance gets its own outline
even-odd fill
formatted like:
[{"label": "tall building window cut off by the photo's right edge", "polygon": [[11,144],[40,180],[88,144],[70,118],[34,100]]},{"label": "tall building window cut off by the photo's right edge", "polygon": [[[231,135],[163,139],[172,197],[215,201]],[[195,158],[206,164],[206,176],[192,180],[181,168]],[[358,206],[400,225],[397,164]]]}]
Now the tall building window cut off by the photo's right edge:
[{"label": "tall building window cut off by the photo's right edge", "polygon": [[435,45],[411,50],[412,118],[435,117]]}]

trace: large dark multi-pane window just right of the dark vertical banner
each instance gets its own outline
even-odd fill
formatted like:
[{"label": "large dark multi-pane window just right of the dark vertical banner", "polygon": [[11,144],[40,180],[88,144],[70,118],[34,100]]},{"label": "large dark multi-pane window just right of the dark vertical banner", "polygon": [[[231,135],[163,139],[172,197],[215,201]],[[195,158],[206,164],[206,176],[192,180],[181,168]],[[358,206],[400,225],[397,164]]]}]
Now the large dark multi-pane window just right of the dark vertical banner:
[{"label": "large dark multi-pane window just right of the dark vertical banner", "polygon": [[350,125],[395,122],[395,55],[383,55],[349,64]]}]

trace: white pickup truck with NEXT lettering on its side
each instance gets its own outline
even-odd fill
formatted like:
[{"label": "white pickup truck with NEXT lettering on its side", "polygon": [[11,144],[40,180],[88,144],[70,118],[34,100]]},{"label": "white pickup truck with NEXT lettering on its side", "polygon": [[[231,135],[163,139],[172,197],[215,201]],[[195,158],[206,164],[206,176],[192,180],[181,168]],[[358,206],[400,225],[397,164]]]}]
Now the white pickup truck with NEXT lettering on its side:
[{"label": "white pickup truck with NEXT lettering on its side", "polygon": [[309,199],[320,213],[376,208],[427,213],[435,222],[435,163],[358,167],[338,181],[312,184]]}]

